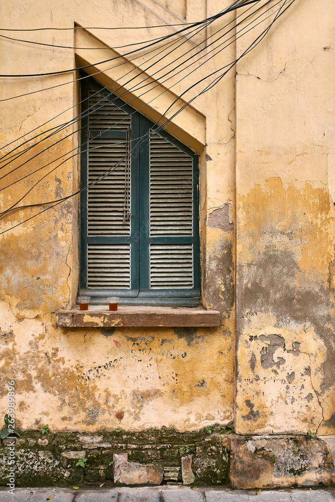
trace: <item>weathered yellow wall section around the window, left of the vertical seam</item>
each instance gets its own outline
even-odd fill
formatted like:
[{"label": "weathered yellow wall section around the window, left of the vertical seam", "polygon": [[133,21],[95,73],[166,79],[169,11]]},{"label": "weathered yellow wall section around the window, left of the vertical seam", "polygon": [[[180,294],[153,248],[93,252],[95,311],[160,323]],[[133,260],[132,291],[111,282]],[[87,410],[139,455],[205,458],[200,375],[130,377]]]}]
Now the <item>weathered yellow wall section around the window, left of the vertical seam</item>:
[{"label": "weathered yellow wall section around the window, left of the vertical seam", "polygon": [[[154,11],[153,6],[156,8]],[[199,16],[205,17],[217,10],[216,2],[203,2]],[[104,0],[98,4],[76,0],[64,3],[58,0],[52,6],[42,0],[25,0],[19,5],[6,2],[2,3],[0,11],[0,18],[5,20],[8,28],[71,28],[74,23],[84,27],[150,26],[164,22],[180,23],[180,18],[185,17],[189,22],[195,15],[189,2],[167,2],[162,7],[149,1],[143,5],[139,2],[115,2],[111,5]],[[230,19],[233,19],[233,14]],[[211,28],[212,32],[218,26],[216,23]],[[170,32],[170,28],[165,31],[161,29],[159,33],[154,29],[122,32],[92,30],[96,39],[86,34],[85,44],[71,30],[25,33],[18,38],[73,46],[76,49],[48,48],[2,40],[1,73],[71,69],[76,65],[76,58],[77,61],[78,58],[86,58],[92,64],[104,59],[105,52],[107,57],[113,55],[105,48],[103,51],[96,50],[101,42],[115,48]],[[88,38],[92,50],[80,50],[79,47],[87,47]],[[184,45],[186,48],[183,46],[177,55],[194,47],[194,42],[185,39]],[[126,52],[126,49],[116,50]],[[160,51],[157,51],[157,59],[159,55]],[[234,57],[233,44],[225,52],[225,58],[231,60]],[[225,64],[225,58],[214,58],[210,70]],[[143,57],[134,60],[132,65],[140,69],[146,66]],[[117,70],[107,70],[108,65],[97,67],[98,70],[105,70],[98,77],[102,81],[107,78],[106,75],[109,81],[115,78],[120,85],[127,80],[117,75]],[[191,69],[194,68],[197,65]],[[172,80],[175,84],[171,91],[173,98],[194,83],[195,78],[204,76],[204,71],[204,68],[199,68],[191,74],[188,69]],[[209,72],[208,68],[206,72]],[[144,74],[142,78],[147,75]],[[177,80],[184,75],[187,78],[178,83]],[[47,136],[49,133],[46,132],[50,128],[71,120],[78,113],[78,108],[72,109],[78,102],[77,84],[71,83],[75,78],[78,78],[76,72],[22,79],[6,78],[2,91],[4,99],[51,86],[53,88],[1,103],[5,117],[0,133],[2,146],[18,140],[35,128],[38,128],[35,134],[43,132]],[[63,82],[69,83],[57,87]],[[165,88],[159,89],[160,92],[162,89]],[[162,95],[151,110],[147,108],[148,113],[157,114],[163,110],[165,104],[169,103],[166,101],[169,97],[166,96]],[[149,95],[148,101],[152,97]],[[64,110],[67,111],[62,113]],[[53,119],[60,113],[58,118]],[[15,380],[16,424],[24,430],[40,429],[45,424],[49,424],[53,431],[113,430],[117,426],[133,431],[162,426],[194,430],[215,423],[225,425],[233,420],[233,115],[232,73],[211,93],[195,101],[190,112],[178,115],[172,123],[179,131],[181,141],[188,144],[188,138],[196,140],[196,151],[201,154],[203,298],[207,307],[220,311],[221,325],[213,329],[56,328],[54,313],[73,305],[77,295],[78,208],[76,198],[70,198],[1,235],[2,416],[7,411],[6,383]],[[41,124],[45,124],[42,129],[39,128]],[[3,210],[21,199],[30,189],[19,205],[45,203],[72,193],[78,185],[78,159],[71,158],[78,145],[77,136],[72,134],[74,131],[75,127],[69,124],[57,136],[45,139],[20,159],[12,159],[8,166],[4,166],[4,173],[18,168],[2,180],[6,182],[4,186],[23,179],[1,192]],[[66,135],[69,135],[67,139],[53,146],[55,139],[61,140]],[[39,139],[31,140],[26,146],[33,146]],[[14,143],[12,146],[16,145]],[[194,145],[191,146],[194,148]],[[9,151],[10,148],[6,147],[2,153]],[[21,166],[28,155],[31,157],[39,152],[40,155]],[[51,170],[51,174],[47,174]],[[31,174],[34,171],[36,173]],[[25,177],[28,174],[30,176]],[[44,175],[46,177],[35,186]],[[24,208],[9,213],[1,219],[1,230],[17,225],[45,207]]]}]

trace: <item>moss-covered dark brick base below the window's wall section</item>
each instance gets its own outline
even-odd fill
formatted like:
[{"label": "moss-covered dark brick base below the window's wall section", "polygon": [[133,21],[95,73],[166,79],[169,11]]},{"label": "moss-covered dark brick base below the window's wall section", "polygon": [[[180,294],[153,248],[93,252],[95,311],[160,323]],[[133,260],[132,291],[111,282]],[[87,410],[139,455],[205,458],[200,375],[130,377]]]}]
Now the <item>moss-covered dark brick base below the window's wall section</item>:
[{"label": "moss-covered dark brick base below the window's wall section", "polygon": [[[213,426],[194,432],[162,428],[134,433],[116,428],[111,432],[55,432],[44,436],[40,431],[25,431],[15,439],[16,485],[111,484],[114,453],[128,453],[130,462],[162,467],[180,467],[181,457],[191,454],[195,483],[221,484],[228,479],[230,430]],[[13,441],[2,441],[0,484],[8,482],[7,458]],[[80,458],[87,458],[84,468],[76,465]],[[179,478],[181,481],[181,471]]]}]

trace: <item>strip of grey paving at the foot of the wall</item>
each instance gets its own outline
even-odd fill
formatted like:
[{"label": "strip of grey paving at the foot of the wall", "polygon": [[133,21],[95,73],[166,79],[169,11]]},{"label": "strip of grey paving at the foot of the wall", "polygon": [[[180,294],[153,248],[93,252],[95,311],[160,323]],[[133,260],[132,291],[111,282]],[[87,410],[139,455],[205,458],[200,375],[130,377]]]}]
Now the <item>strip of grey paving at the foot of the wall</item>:
[{"label": "strip of grey paving at the foot of the wall", "polygon": [[188,486],[144,488],[16,488],[15,495],[0,488],[0,502],[335,502],[335,490],[278,489],[231,490],[229,488],[191,489]]}]

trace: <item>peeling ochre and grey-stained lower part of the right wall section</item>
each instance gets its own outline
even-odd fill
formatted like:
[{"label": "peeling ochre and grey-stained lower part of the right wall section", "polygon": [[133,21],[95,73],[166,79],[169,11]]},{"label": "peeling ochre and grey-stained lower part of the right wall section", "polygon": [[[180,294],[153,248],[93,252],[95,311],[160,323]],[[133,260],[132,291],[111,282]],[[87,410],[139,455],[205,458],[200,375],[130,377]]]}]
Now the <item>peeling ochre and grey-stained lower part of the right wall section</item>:
[{"label": "peeling ochre and grey-stained lower part of the right wall section", "polygon": [[[285,190],[280,180],[270,179],[267,190],[255,187],[241,197],[241,432],[334,432],[329,420],[334,412],[335,320],[328,270],[334,215],[328,194],[310,184]],[[247,315],[253,311],[257,316]],[[257,417],[254,409],[260,410]]]}]

